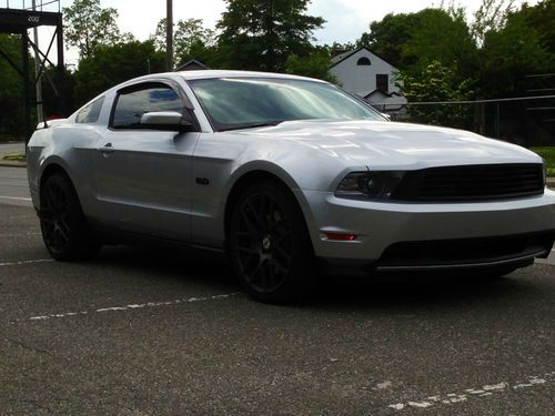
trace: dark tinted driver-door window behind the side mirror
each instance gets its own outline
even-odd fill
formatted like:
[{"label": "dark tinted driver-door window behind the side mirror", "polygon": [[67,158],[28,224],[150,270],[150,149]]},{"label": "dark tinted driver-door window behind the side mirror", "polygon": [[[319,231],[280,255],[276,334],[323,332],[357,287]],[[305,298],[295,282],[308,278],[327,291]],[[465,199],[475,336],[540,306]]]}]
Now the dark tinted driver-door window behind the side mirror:
[{"label": "dark tinted driver-door window behind the side mirror", "polygon": [[117,129],[139,128],[144,113],[157,111],[183,112],[178,93],[168,85],[149,84],[118,95],[112,126]]}]

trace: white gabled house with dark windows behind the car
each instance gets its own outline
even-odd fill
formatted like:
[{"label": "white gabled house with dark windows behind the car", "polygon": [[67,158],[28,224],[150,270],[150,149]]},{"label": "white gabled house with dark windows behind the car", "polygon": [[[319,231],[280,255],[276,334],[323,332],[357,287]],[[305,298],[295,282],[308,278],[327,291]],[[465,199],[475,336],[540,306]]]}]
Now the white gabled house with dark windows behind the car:
[{"label": "white gabled house with dark windows behind the car", "polygon": [[406,99],[395,85],[398,70],[366,48],[336,55],[332,59],[330,72],[346,91],[383,111],[400,111],[406,104]]}]

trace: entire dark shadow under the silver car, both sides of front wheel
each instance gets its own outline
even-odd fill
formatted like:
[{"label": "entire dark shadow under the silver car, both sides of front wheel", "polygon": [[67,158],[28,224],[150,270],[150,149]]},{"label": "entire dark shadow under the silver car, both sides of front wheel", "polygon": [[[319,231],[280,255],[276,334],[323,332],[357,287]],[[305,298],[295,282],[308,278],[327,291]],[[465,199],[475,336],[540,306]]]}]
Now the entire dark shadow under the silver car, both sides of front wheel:
[{"label": "entire dark shadow under the silver car, both sides of front wheel", "polygon": [[[127,273],[147,273],[149,280],[195,284],[218,292],[241,292],[233,271],[222,253],[198,250],[104,247],[91,263]],[[523,302],[536,291],[524,268],[505,277],[483,275],[374,275],[367,277],[319,276],[309,296],[280,307],[302,310],[364,310],[413,312],[456,308],[461,305]],[[246,297],[246,296],[245,296]],[[254,302],[254,301],[251,301]]]}]

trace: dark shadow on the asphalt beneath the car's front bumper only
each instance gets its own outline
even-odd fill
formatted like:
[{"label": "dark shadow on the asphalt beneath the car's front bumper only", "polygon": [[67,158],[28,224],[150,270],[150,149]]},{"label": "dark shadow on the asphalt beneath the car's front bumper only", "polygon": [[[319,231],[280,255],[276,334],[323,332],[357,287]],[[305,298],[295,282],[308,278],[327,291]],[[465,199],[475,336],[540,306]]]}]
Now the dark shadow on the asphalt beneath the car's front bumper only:
[{"label": "dark shadow on the asphalt beneath the car's front bumper only", "polygon": [[[522,303],[537,288],[527,281],[529,268],[503,277],[486,275],[376,275],[367,278],[326,277],[317,294],[302,307],[412,313],[431,310]],[[297,305],[299,306],[299,305]]]}]

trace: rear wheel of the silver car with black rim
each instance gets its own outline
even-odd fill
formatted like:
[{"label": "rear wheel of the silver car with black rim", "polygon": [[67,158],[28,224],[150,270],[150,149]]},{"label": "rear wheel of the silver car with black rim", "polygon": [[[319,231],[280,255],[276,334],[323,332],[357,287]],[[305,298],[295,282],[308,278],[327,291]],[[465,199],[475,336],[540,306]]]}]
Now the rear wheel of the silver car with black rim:
[{"label": "rear wheel of the silver car with black rim", "polygon": [[73,184],[64,174],[49,176],[41,186],[39,217],[42,240],[56,260],[85,260],[100,250]]}]

